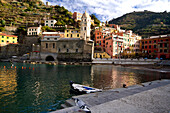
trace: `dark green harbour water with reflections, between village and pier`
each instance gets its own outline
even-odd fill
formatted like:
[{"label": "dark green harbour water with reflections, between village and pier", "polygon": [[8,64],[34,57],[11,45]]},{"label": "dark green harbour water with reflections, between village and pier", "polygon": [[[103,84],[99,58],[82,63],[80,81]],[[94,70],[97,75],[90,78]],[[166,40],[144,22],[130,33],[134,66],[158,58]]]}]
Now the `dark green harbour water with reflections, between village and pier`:
[{"label": "dark green harbour water with reflections, between village and pier", "polygon": [[[5,66],[5,67],[4,67]],[[69,81],[114,89],[170,78],[168,74],[112,66],[74,66],[0,63],[0,113],[49,112],[71,98]]]}]

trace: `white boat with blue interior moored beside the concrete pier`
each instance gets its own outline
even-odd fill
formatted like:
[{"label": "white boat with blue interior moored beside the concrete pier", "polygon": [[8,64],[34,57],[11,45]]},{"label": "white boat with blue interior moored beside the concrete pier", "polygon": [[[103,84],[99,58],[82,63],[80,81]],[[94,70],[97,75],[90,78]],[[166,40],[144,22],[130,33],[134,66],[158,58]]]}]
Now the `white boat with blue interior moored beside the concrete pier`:
[{"label": "white boat with blue interior moored beside the concrete pier", "polygon": [[72,81],[70,81],[70,86],[71,86],[71,90],[76,94],[87,94],[87,93],[95,93],[95,92],[102,91],[102,89],[92,88],[81,84],[75,84]]}]

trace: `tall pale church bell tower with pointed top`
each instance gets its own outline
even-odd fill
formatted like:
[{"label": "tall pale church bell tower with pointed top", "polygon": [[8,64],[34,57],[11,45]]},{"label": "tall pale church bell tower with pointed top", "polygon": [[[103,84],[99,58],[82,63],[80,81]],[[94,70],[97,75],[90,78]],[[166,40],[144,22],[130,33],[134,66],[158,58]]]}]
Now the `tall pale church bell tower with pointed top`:
[{"label": "tall pale church bell tower with pointed top", "polygon": [[81,17],[81,30],[80,37],[84,40],[90,40],[90,31],[91,31],[91,17],[85,11]]}]

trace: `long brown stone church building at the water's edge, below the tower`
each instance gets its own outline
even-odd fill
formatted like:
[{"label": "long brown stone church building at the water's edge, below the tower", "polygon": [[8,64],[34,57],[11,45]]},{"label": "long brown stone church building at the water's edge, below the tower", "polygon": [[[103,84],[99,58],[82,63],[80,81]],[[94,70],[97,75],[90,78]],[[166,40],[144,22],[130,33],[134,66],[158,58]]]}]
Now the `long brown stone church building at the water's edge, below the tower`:
[{"label": "long brown stone church building at the water's edge, below the tower", "polygon": [[42,41],[41,58],[45,60],[45,56],[57,54],[54,59],[58,61],[91,61],[93,45],[93,41],[87,42],[81,39]]}]

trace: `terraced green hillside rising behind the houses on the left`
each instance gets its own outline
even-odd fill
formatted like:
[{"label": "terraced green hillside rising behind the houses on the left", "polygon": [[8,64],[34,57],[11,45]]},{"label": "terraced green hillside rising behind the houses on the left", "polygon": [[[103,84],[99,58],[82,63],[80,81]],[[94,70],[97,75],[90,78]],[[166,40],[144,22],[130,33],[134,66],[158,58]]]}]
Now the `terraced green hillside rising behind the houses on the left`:
[{"label": "terraced green hillside rising behind the houses on the left", "polygon": [[45,19],[55,19],[60,26],[75,24],[70,11],[58,5],[46,6],[41,0],[0,0],[0,13],[0,31],[4,31],[5,26],[17,26],[19,32],[26,31],[28,26],[44,25]]}]

